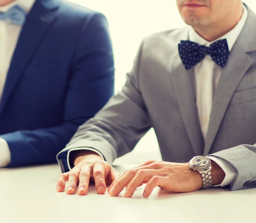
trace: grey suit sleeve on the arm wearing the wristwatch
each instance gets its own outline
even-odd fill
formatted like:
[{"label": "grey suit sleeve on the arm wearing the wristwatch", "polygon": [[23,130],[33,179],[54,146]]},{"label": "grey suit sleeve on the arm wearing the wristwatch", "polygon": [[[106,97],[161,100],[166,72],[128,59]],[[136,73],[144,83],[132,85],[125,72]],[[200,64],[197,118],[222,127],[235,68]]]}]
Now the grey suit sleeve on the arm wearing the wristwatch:
[{"label": "grey suit sleeve on the arm wearing the wristwatch", "polygon": [[232,183],[224,189],[236,191],[256,187],[256,144],[239,145],[210,156],[226,160],[237,171]]}]

